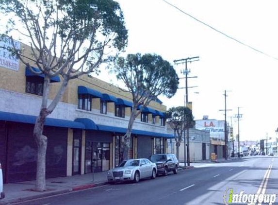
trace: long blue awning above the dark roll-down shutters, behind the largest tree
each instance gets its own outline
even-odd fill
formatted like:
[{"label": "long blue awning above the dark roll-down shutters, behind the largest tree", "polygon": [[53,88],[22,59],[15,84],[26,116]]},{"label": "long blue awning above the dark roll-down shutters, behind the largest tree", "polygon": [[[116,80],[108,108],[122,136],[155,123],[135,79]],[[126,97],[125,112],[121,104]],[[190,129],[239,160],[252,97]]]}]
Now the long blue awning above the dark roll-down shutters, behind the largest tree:
[{"label": "long blue awning above the dark roll-down shutters, behind the largest tree", "polygon": [[[36,121],[36,118],[37,118],[36,116],[32,116],[32,115],[22,115],[22,114],[0,111],[0,120],[3,120],[3,121],[34,124]],[[54,118],[47,118],[45,125],[53,126],[53,127],[68,127],[68,128],[85,129],[84,124],[82,124],[80,122],[75,122],[75,121],[70,121],[70,120],[60,120],[60,119],[54,119]]]}]

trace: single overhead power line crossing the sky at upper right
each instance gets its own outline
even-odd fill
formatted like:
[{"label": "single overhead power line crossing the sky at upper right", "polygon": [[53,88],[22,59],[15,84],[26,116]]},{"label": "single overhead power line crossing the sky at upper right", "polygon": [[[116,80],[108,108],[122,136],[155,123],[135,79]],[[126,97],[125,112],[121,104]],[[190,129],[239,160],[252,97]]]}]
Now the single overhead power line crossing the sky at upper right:
[{"label": "single overhead power line crossing the sky at upper right", "polygon": [[236,38],[234,38],[234,37],[232,37],[232,36],[230,36],[230,35],[228,35],[228,34],[225,34],[225,33],[221,32],[221,31],[219,31],[218,29],[215,29],[213,26],[211,26],[211,25],[209,25],[209,24],[207,24],[207,23],[205,23],[205,22],[199,20],[198,18],[196,18],[196,17],[194,17],[194,16],[192,16],[192,15],[186,13],[185,11],[183,11],[183,10],[181,10],[179,7],[177,7],[177,6],[175,6],[175,5],[171,4],[171,3],[169,3],[168,1],[166,1],[166,0],[163,0],[163,1],[164,1],[165,3],[167,3],[167,4],[169,4],[170,6],[172,6],[172,7],[176,8],[176,9],[178,9],[181,13],[183,13],[183,14],[185,14],[185,15],[187,15],[187,16],[193,18],[194,20],[198,21],[199,23],[201,23],[201,24],[203,24],[203,25],[205,25],[205,26],[211,28],[213,31],[216,31],[217,33],[220,33],[220,34],[222,34],[222,35],[225,35],[226,37],[228,37],[228,38],[230,38],[230,39],[236,41],[237,43],[239,43],[239,44],[241,44],[241,45],[244,45],[244,46],[248,47],[249,49],[252,49],[253,51],[257,51],[257,52],[259,52],[259,53],[261,53],[261,54],[263,54],[263,55],[266,55],[267,57],[270,57],[270,58],[273,58],[273,59],[275,59],[275,60],[278,60],[278,58],[276,58],[276,57],[274,57],[274,56],[272,56],[272,55],[269,55],[269,54],[267,54],[267,53],[265,53],[265,52],[263,52],[263,51],[260,51],[260,50],[258,50],[258,49],[256,49],[256,48],[252,47],[252,46],[249,46],[248,44],[245,44],[244,42],[242,42],[242,41],[240,41],[240,40],[237,40]]}]

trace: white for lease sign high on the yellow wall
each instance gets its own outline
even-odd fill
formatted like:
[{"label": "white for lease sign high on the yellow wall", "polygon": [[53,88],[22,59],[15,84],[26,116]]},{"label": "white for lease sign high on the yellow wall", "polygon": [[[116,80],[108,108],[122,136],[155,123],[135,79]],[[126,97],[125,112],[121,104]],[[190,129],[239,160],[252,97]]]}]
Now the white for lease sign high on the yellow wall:
[{"label": "white for lease sign high on the yellow wall", "polygon": [[[16,49],[20,49],[20,42],[14,40]],[[8,49],[13,48],[13,43],[10,38],[0,38],[0,67],[18,70],[19,60],[16,55],[13,55]]]}]

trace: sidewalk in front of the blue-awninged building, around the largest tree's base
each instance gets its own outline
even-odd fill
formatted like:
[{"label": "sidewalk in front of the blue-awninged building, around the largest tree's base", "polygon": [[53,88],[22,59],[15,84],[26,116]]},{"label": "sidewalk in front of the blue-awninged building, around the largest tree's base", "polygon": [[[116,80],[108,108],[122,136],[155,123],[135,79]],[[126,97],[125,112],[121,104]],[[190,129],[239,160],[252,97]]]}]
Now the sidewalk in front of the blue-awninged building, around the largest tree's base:
[{"label": "sidewalk in front of the blue-awninged building, around the largest tree's base", "polygon": [[[192,169],[193,166],[180,167],[179,170]],[[107,171],[74,175],[68,177],[50,178],[46,180],[47,190],[36,192],[34,188],[35,181],[25,181],[11,184],[4,184],[5,198],[0,200],[0,205],[28,201],[36,198],[67,193],[87,188],[98,187],[107,184]]]}]

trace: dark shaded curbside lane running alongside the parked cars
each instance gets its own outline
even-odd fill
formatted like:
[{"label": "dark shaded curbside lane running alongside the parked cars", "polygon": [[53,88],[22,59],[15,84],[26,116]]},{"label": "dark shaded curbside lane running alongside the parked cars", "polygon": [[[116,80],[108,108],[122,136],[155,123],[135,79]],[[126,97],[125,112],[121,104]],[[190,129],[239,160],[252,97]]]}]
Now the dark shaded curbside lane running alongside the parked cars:
[{"label": "dark shaded curbside lane running alongside the parked cars", "polygon": [[[167,177],[157,177],[156,180],[142,180],[138,184],[116,184],[81,192],[72,192],[66,195],[42,199],[39,201],[39,204],[76,205],[82,202],[82,205],[116,205],[122,204],[122,199],[124,199],[125,204],[147,204],[153,201],[153,199],[170,197],[181,188],[190,186],[194,183],[207,184],[208,181],[211,181],[211,183],[214,184],[216,181],[211,179],[214,176],[213,174],[222,169],[226,171],[232,169],[234,172],[231,172],[231,174],[244,170],[244,168],[238,166],[198,168],[180,171],[178,174],[169,174]],[[136,200],[134,201],[134,199]],[[37,205],[37,202],[32,203],[33,204],[29,202],[26,203],[26,205]]]}]

